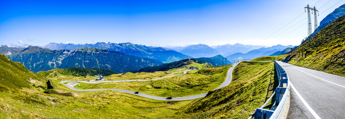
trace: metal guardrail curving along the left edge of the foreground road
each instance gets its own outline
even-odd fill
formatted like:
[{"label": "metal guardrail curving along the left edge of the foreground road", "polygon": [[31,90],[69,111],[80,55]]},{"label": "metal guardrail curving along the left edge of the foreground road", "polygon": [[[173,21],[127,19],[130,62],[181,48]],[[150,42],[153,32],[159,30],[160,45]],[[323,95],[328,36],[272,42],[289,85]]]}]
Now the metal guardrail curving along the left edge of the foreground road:
[{"label": "metal guardrail curving along the left edge of the foreground road", "polygon": [[[260,108],[257,108],[255,110],[255,113],[248,119],[252,119],[253,117],[255,119],[280,119],[282,113],[284,112],[284,107],[290,93],[289,76],[276,61],[274,61],[274,64],[278,76],[279,85],[275,89],[271,97],[269,97],[269,99]],[[275,103],[272,108],[270,110],[263,109],[263,107],[265,107],[267,103],[272,99],[274,94]]]}]

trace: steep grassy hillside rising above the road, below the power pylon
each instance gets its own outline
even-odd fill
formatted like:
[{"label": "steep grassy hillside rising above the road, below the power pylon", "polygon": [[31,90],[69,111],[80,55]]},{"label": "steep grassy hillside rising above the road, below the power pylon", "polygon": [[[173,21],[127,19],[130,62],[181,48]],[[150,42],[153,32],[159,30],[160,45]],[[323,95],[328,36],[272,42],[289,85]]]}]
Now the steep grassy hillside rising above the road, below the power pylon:
[{"label": "steep grassy hillside rising above the road, below the power pylon", "polygon": [[296,54],[287,56],[288,63],[345,76],[345,16],[339,17],[296,49],[306,53],[306,58]]}]

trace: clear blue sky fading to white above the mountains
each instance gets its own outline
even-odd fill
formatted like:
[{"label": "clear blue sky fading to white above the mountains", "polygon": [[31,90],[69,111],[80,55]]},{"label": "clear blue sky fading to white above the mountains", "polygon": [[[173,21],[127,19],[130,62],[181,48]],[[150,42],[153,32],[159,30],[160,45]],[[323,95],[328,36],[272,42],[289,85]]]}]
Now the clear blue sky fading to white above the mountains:
[{"label": "clear blue sky fading to white above the mountains", "polygon": [[308,3],[320,23],[345,1],[0,0],[0,44],[299,45]]}]

